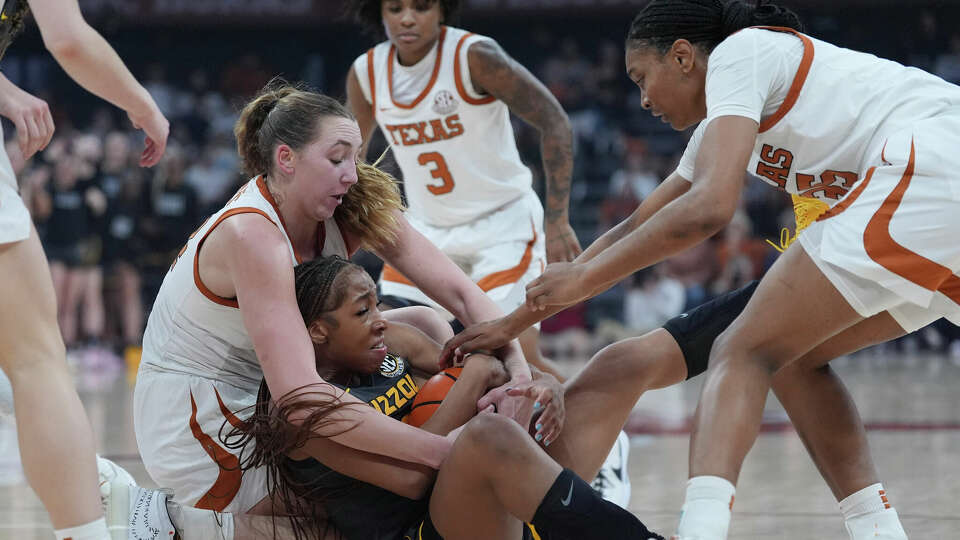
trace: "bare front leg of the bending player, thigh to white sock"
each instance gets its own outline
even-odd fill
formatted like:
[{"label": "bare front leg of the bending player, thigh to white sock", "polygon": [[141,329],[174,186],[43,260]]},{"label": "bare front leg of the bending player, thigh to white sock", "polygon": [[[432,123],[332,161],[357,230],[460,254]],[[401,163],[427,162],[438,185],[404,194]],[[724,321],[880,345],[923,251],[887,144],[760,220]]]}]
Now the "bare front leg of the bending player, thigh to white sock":
[{"label": "bare front leg of the bending player, thigh to white sock", "polygon": [[691,477],[736,484],[773,374],[861,320],[806,252],[787,250],[713,345],[690,441]]}]

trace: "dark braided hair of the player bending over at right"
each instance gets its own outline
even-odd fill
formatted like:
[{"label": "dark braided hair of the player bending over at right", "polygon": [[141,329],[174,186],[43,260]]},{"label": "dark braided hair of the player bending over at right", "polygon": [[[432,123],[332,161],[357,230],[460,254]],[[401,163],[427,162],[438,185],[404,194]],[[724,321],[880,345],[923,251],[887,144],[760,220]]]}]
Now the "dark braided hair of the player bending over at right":
[{"label": "dark braided hair of the player bending over at right", "polygon": [[663,54],[685,39],[710,53],[727,36],[750,26],[803,31],[794,12],[764,0],[653,0],[630,24],[627,47],[653,47]]}]

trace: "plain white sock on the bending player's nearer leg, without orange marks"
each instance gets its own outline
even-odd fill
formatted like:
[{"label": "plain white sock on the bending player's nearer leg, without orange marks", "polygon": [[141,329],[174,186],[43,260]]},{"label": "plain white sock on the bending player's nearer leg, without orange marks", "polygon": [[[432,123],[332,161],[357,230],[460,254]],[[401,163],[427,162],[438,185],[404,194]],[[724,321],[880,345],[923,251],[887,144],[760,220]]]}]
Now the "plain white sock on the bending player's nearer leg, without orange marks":
[{"label": "plain white sock on the bending player's nearer leg, without orange marks", "polygon": [[733,484],[719,476],[694,476],[688,480],[677,536],[725,540],[736,491]]}]

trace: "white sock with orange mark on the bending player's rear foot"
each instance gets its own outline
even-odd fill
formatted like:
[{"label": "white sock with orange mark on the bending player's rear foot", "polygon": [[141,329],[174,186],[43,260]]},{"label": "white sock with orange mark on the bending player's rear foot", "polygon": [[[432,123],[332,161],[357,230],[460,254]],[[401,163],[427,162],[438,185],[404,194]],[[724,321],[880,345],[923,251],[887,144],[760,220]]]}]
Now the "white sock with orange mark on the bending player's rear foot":
[{"label": "white sock with orange mark on the bending player's rear foot", "polygon": [[840,513],[851,540],[907,538],[883,484],[867,486],[840,501]]}]

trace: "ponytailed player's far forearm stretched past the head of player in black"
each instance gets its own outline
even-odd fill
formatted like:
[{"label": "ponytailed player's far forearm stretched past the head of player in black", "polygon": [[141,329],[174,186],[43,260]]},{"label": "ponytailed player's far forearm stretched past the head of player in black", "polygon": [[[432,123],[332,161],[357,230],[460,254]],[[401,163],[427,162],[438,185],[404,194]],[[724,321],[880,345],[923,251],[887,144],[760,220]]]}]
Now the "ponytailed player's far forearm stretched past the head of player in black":
[{"label": "ponytailed player's far forearm stretched past the head of player in black", "polygon": [[[453,264],[436,246],[400,216],[397,241],[381,248],[377,255],[409,278],[417,287],[446,308],[464,324],[495,319],[503,315],[493,300]],[[530,368],[520,344],[510,341],[501,356],[511,380],[530,380]]]}]

